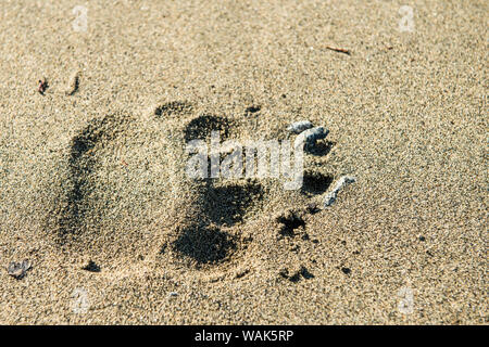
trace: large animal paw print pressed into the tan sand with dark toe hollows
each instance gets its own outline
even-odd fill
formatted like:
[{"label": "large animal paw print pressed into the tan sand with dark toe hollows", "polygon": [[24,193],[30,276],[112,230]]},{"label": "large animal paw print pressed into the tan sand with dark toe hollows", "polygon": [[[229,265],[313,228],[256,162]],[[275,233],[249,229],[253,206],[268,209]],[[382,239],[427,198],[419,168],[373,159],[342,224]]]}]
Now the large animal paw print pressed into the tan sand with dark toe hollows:
[{"label": "large animal paw print pressed into the tan sand with dark toe hollows", "polygon": [[[136,257],[158,249],[170,262],[198,269],[238,261],[251,240],[242,230],[268,218],[274,202],[290,195],[305,206],[333,181],[306,171],[301,190],[284,193],[277,180],[186,176],[189,141],[209,141],[212,131],[239,141],[251,132],[240,127],[179,101],[158,105],[145,120],[114,113],[89,121],[70,142],[47,227],[61,244],[97,254]],[[289,235],[298,227],[305,222],[285,220],[280,230]]]}]

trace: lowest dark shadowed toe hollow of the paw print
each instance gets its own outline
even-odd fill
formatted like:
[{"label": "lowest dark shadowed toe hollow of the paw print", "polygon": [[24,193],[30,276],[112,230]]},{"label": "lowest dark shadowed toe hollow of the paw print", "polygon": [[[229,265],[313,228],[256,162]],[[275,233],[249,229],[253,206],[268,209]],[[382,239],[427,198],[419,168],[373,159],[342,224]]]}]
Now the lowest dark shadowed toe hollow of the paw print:
[{"label": "lowest dark shadowed toe hollow of the paw print", "polygon": [[203,226],[183,230],[173,247],[201,265],[224,260],[236,249],[236,242],[218,228]]}]

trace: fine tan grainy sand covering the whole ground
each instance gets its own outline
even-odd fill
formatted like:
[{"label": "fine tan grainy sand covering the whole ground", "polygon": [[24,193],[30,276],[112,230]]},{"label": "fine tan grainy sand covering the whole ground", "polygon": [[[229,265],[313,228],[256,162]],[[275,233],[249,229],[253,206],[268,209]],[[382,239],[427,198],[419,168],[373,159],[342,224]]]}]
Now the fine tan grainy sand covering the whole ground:
[{"label": "fine tan grainy sand covering the whole ground", "polygon": [[2,1],[0,323],[487,324],[488,2],[404,4]]}]

